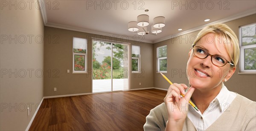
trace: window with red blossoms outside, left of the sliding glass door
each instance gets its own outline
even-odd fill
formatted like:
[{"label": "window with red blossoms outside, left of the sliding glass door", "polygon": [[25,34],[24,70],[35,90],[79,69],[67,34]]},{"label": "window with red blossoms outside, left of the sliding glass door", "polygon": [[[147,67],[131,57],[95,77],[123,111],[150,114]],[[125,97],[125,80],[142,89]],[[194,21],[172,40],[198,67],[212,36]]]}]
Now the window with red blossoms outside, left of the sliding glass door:
[{"label": "window with red blossoms outside, left of the sliding glass door", "polygon": [[73,73],[87,73],[87,39],[73,37]]}]

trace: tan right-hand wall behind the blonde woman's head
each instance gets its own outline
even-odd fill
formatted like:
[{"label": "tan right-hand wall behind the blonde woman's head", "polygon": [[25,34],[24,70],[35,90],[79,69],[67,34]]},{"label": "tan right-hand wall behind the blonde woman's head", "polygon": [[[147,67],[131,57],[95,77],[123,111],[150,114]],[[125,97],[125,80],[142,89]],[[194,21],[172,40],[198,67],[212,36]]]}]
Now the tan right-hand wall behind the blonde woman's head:
[{"label": "tan right-hand wall behind the blonde woman's head", "polygon": [[[239,37],[239,26],[247,25],[256,22],[256,14],[243,17],[237,20],[227,22],[227,26],[232,28]],[[186,78],[186,63],[188,60],[188,52],[192,46],[193,41],[199,31],[195,31],[189,34],[182,35],[173,39],[165,40],[154,44],[154,87],[167,89],[169,83],[167,83],[160,74],[156,73],[156,48],[158,46],[167,45],[167,74],[166,77],[170,78],[173,83],[185,83],[188,85],[188,79]],[[182,38],[182,39],[181,39]],[[188,38],[186,41],[186,39]],[[250,100],[256,101],[256,75],[255,74],[238,74],[239,64],[235,74],[232,78],[225,83],[230,91],[237,92]]]}]

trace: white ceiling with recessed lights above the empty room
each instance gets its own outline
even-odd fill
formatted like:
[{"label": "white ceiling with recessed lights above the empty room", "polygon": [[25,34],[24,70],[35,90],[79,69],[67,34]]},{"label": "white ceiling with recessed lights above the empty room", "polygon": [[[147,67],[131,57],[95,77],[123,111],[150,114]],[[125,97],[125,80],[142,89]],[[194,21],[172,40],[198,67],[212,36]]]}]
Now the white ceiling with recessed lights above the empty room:
[{"label": "white ceiling with recessed lights above the empty room", "polygon": [[[162,33],[145,35],[143,42],[148,43],[256,13],[256,0],[44,0],[44,3],[46,26],[129,40],[134,40],[134,35],[140,40],[139,35],[128,31],[128,22],[137,21],[138,15],[149,15],[149,27],[154,17],[164,16],[166,26]],[[204,22],[205,19],[210,21]]]}]

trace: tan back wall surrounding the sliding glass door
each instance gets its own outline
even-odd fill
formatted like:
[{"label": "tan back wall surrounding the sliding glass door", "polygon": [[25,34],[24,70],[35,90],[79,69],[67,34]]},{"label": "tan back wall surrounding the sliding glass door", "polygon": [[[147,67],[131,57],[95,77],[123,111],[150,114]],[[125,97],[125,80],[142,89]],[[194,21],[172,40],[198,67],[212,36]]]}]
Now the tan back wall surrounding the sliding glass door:
[{"label": "tan back wall surrounding the sliding glass door", "polygon": [[[87,67],[89,70],[92,66],[91,37],[102,39],[106,38],[107,40],[109,40],[110,37],[102,37],[100,35],[88,34],[79,31],[70,31],[60,28],[52,28],[47,26],[45,26],[44,29],[44,35],[46,36],[44,44],[44,70],[48,73],[44,77],[44,96],[91,93],[91,73],[72,74],[73,37],[87,38],[88,40]],[[119,35],[117,38],[120,37],[121,35]],[[51,38],[50,43],[49,38]],[[57,43],[53,44],[53,40],[56,40],[55,42]],[[116,39],[112,37],[111,40]],[[126,39],[117,39],[117,41],[126,42]],[[140,75],[142,78],[139,78],[139,74],[136,76],[131,74],[131,71],[129,72],[131,75],[131,89],[153,87],[153,44],[138,43],[132,40],[129,40],[128,43],[141,46],[141,66],[144,70],[144,74]],[[70,70],[70,73],[67,73],[67,69]],[[50,76],[49,72],[51,72]],[[55,76],[53,76],[54,74]],[[140,82],[141,85],[139,85]],[[53,91],[54,87],[57,88],[57,91]]]}]

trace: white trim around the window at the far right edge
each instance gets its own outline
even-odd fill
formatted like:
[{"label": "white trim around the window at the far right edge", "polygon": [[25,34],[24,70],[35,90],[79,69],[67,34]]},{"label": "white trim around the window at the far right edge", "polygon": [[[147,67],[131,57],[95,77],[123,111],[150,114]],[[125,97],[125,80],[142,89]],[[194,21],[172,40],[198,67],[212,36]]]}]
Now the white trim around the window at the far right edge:
[{"label": "white trim around the window at the far right edge", "polygon": [[245,26],[240,26],[239,27],[239,46],[240,46],[240,60],[239,60],[239,67],[240,67],[240,72],[239,74],[256,74],[256,70],[244,70],[244,49],[246,48],[255,48],[256,45],[247,45],[247,46],[242,46],[242,28],[246,26],[251,26],[256,23],[248,24]]}]

